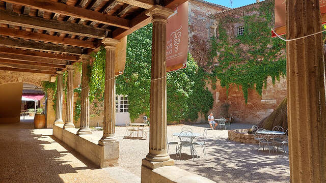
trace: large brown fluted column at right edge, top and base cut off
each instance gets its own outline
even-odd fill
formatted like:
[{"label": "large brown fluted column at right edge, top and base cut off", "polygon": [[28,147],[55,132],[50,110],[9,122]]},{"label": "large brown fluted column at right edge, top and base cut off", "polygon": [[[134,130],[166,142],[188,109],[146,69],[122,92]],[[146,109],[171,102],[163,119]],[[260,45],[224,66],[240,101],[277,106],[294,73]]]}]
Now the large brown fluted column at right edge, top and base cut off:
[{"label": "large brown fluted column at right edge, top and base cut off", "polygon": [[[321,31],[319,1],[286,1],[287,39]],[[286,44],[290,180],[326,182],[326,104],[321,34]]]}]

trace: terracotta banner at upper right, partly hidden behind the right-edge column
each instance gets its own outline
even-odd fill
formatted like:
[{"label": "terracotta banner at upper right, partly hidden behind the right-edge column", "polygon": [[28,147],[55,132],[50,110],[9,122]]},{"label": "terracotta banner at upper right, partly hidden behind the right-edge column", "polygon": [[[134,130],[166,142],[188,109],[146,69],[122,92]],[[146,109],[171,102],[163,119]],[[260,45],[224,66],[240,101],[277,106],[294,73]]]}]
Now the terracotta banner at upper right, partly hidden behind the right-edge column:
[{"label": "terracotta banner at upper right, partly hidden behind the right-edge column", "polygon": [[[326,0],[319,1],[319,10],[321,24],[326,23]],[[286,3],[285,0],[275,0],[275,25],[274,30],[278,35],[286,34]],[[276,37],[274,31],[271,31],[271,37]]]}]

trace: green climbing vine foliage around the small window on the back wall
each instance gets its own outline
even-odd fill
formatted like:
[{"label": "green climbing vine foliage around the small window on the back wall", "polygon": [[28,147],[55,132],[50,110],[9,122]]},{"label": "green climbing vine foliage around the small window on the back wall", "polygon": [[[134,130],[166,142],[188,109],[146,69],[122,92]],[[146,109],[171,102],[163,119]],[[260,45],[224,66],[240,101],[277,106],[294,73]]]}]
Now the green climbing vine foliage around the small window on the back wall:
[{"label": "green climbing vine foliage around the small window on the back wall", "polygon": [[[271,76],[274,84],[280,76],[286,75],[286,57],[285,42],[271,38],[274,1],[266,0],[244,14],[248,15],[241,18],[232,15],[216,16],[219,22],[218,37],[211,38],[209,58],[218,60],[210,78],[217,77],[221,86],[227,89],[230,85],[241,86],[247,103],[249,88],[256,89],[261,95],[268,76]],[[234,24],[242,22],[243,35],[233,36],[227,32],[230,28],[234,29]],[[215,82],[212,80],[213,84]]]}]

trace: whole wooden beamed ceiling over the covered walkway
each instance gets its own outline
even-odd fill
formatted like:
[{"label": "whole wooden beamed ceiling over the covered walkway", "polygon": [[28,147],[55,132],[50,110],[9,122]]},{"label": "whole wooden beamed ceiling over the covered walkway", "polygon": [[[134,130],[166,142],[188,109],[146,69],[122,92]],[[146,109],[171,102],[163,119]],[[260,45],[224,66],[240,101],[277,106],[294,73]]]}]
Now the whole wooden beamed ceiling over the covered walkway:
[{"label": "whole wooden beamed ceiling over the covered walkway", "polygon": [[121,39],[151,21],[154,5],[186,0],[0,1],[0,70],[44,73],[73,64],[104,38]]}]

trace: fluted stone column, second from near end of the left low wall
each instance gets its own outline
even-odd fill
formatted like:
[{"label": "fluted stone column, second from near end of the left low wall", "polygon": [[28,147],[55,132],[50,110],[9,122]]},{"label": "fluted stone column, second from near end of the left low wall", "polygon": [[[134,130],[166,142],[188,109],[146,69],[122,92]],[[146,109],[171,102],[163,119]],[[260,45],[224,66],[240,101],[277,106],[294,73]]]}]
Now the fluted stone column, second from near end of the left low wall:
[{"label": "fluted stone column, second from near end of the left low wall", "polygon": [[82,71],[82,105],[80,111],[80,128],[77,131],[77,135],[92,134],[90,130],[90,88],[88,87],[89,75],[88,75],[88,66],[90,65],[90,55],[80,56],[81,61],[83,62],[83,71]]}]

